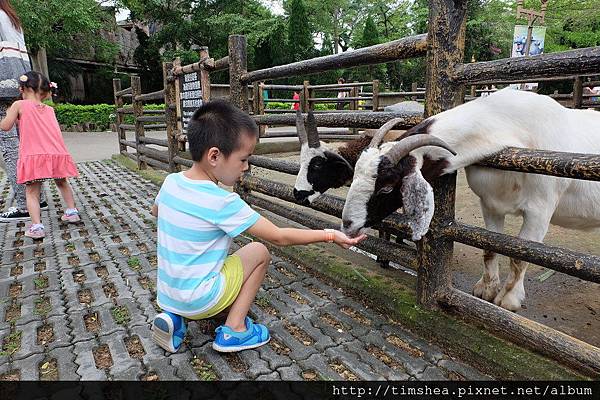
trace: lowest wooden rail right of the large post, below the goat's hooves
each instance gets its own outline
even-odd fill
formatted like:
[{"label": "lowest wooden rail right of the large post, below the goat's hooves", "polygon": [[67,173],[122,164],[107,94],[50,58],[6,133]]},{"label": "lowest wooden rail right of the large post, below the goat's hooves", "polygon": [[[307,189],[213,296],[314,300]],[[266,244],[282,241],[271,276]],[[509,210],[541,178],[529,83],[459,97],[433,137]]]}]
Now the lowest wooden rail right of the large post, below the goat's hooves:
[{"label": "lowest wooden rail right of the large post, below the goat's hooves", "polygon": [[546,325],[483,301],[458,289],[439,300],[449,311],[478,321],[512,341],[533,348],[572,367],[600,376],[600,349]]}]

